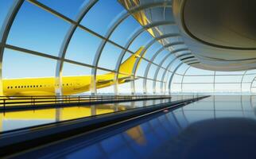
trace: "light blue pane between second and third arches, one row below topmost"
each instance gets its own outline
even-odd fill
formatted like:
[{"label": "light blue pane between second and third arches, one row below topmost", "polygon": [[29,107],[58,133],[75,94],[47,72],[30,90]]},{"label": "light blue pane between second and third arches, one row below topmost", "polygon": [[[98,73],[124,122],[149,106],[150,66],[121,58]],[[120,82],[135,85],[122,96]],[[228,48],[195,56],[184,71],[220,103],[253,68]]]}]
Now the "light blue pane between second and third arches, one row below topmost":
[{"label": "light blue pane between second and third arches, one row below topmost", "polygon": [[68,45],[65,58],[85,64],[92,64],[100,41],[99,37],[95,37],[82,29],[76,29]]}]

